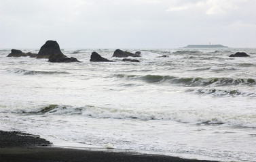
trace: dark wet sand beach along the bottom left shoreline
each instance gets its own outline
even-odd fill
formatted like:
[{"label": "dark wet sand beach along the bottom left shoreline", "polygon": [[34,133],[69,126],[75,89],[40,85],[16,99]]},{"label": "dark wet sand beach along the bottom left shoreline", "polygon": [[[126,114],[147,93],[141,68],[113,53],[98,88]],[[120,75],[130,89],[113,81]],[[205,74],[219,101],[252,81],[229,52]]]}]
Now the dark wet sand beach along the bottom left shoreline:
[{"label": "dark wet sand beach along the bottom left shoreline", "polygon": [[[50,142],[21,132],[3,132],[0,130],[0,161],[198,161],[164,155],[147,155],[117,151],[90,151],[71,148],[52,147]],[[205,161],[206,162],[206,161]]]}]

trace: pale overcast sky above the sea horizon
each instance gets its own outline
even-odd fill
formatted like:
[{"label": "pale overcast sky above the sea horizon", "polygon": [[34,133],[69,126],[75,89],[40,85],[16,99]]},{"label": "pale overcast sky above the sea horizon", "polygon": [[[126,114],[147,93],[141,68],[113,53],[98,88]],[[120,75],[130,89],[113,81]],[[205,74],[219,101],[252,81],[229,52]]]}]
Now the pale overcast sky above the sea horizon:
[{"label": "pale overcast sky above the sea horizon", "polygon": [[0,49],[256,47],[256,0],[0,0]]}]

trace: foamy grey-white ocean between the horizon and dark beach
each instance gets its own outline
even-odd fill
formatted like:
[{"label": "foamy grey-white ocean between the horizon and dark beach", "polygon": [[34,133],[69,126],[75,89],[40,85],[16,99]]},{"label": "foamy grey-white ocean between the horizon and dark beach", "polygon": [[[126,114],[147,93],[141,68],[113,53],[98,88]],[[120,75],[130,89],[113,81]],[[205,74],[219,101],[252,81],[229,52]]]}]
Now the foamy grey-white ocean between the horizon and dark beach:
[{"label": "foamy grey-white ocean between the horizon and dark beach", "polygon": [[[141,51],[140,63],[115,49],[61,50],[82,62],[0,49],[0,130],[54,146],[256,161],[256,49],[122,49]],[[90,62],[93,51],[115,62]],[[228,57],[238,51],[251,57]]]}]

